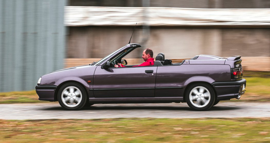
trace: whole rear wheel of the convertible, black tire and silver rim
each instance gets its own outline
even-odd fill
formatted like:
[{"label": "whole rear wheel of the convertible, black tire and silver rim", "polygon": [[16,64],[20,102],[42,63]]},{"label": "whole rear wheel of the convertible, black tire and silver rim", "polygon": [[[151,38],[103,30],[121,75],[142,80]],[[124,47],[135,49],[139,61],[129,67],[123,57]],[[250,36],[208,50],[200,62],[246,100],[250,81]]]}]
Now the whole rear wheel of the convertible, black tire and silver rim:
[{"label": "whole rear wheel of the convertible, black tire and silver rim", "polygon": [[204,111],[213,106],[215,94],[210,85],[197,83],[187,89],[185,99],[191,109]]}]

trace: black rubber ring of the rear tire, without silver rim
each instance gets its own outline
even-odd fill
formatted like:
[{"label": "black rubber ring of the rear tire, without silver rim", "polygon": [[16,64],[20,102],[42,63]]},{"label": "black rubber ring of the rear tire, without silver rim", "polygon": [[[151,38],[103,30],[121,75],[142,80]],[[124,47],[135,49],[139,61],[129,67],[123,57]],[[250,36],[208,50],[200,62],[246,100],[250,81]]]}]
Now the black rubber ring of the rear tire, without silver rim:
[{"label": "black rubber ring of the rear tire, without silver rim", "polygon": [[[204,107],[196,107],[196,106],[194,106],[191,103],[190,99],[189,99],[189,95],[190,95],[191,90],[193,88],[199,87],[199,86],[206,88],[209,91],[209,93],[210,93],[210,102],[206,106],[204,106]],[[205,111],[205,110],[208,110],[209,108],[211,108],[214,105],[214,102],[215,102],[215,93],[214,93],[213,88],[210,85],[205,84],[205,83],[196,83],[196,84],[193,84],[190,87],[188,87],[187,92],[185,94],[185,99],[186,99],[186,102],[187,102],[188,106],[191,109],[197,110],[197,111]]]}]

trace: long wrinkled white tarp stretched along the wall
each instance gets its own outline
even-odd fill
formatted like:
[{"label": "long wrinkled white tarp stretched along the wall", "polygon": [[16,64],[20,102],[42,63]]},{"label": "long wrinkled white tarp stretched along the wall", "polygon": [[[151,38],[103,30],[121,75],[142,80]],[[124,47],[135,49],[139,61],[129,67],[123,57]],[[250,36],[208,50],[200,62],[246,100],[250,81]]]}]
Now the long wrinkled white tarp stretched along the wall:
[{"label": "long wrinkled white tarp stretched along the wall", "polygon": [[66,6],[65,26],[270,26],[270,9]]}]

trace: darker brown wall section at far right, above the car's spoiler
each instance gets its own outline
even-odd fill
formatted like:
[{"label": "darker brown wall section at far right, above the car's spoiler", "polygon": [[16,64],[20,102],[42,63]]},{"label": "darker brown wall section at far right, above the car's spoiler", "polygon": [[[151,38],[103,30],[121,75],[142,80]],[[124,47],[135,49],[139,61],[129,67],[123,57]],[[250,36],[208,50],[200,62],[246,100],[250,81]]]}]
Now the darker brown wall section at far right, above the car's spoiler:
[{"label": "darker brown wall section at far right, above the car's spoiler", "polygon": [[222,56],[270,57],[270,28],[222,28]]}]

